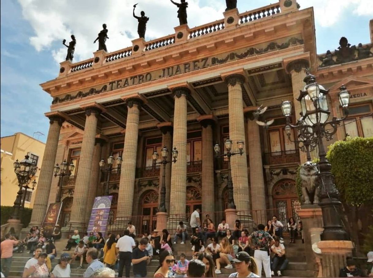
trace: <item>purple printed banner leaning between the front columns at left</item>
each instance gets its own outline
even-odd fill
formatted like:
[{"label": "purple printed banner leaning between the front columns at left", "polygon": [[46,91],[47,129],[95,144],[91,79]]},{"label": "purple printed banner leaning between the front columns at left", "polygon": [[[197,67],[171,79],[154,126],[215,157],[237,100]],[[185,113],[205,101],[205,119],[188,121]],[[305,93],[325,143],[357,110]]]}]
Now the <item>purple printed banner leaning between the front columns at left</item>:
[{"label": "purple printed banner leaning between the front columns at left", "polygon": [[101,232],[105,236],[107,219],[109,218],[110,206],[113,196],[101,196],[94,199],[91,218],[88,224],[88,234]]}]

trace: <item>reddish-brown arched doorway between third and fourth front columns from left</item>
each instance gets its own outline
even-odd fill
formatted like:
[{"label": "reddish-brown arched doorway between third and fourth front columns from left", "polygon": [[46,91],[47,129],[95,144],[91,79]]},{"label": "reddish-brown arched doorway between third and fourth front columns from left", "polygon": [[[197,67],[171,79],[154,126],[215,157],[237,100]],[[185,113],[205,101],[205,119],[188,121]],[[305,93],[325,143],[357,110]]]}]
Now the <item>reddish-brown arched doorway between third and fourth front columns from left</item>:
[{"label": "reddish-brown arched doorway between third and fourth front columns from left", "polygon": [[140,234],[150,232],[157,227],[158,193],[155,190],[145,191],[142,197]]}]

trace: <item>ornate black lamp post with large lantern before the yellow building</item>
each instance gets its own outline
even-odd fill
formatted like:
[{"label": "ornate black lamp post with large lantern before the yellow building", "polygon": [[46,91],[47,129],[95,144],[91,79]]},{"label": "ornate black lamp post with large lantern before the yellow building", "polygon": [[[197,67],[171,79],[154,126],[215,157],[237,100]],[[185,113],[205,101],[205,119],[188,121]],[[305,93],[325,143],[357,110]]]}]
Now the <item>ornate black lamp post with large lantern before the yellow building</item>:
[{"label": "ornate black lamp post with large lantern before the yellow building", "polygon": [[[18,161],[18,159],[13,163],[14,172],[16,173],[18,179],[19,190],[17,192],[16,200],[13,205],[13,214],[10,216],[11,219],[19,219],[19,211],[22,205],[22,188],[23,185],[28,184],[31,181],[31,178],[34,177],[37,165],[35,162],[29,160],[29,155],[26,154],[25,158]],[[25,192],[26,196],[26,192]]]}]

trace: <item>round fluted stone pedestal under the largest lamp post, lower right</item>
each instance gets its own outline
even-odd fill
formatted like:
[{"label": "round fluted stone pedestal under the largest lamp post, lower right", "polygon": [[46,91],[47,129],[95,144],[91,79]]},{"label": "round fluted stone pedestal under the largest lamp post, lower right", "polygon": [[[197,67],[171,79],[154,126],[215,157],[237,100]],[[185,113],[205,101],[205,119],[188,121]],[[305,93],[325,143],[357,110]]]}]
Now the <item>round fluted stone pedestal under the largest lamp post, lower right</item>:
[{"label": "round fluted stone pedestal under the largest lamp post, lower right", "polygon": [[339,277],[339,269],[345,267],[346,257],[352,256],[352,241],[324,240],[317,245],[322,252],[322,277]]}]

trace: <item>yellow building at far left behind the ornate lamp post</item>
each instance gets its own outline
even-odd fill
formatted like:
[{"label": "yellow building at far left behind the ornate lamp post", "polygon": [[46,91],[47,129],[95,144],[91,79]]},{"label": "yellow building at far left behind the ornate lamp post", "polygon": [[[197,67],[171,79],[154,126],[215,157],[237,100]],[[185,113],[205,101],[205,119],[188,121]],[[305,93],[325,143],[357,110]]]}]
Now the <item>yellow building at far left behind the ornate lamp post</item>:
[{"label": "yellow building at far left behind the ornate lamp post", "polygon": [[[19,190],[18,179],[14,172],[13,162],[16,159],[21,161],[27,153],[34,154],[39,157],[37,166],[38,170],[35,174],[36,182],[38,182],[41,162],[43,161],[45,143],[38,141],[26,134],[17,132],[14,135],[1,137],[1,206],[13,206]],[[31,179],[31,182],[34,180]],[[31,182],[29,187],[31,187]],[[36,185],[37,187],[37,185]],[[30,202],[25,202],[25,207],[32,208],[35,199],[35,190],[31,195]]]}]

